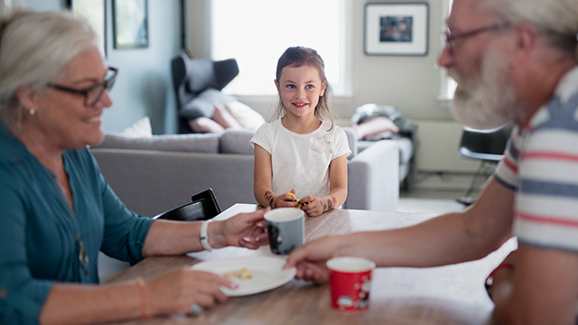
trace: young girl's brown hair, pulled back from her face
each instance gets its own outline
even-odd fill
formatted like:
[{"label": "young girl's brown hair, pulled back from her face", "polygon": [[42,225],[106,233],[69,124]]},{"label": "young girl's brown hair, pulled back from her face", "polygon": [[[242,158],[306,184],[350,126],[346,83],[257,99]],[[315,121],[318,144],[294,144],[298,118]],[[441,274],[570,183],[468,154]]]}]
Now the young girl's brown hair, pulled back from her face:
[{"label": "young girl's brown hair, pulled back from her face", "polygon": [[[331,107],[329,103],[329,98],[332,98],[331,86],[327,82],[327,77],[325,76],[325,63],[317,51],[303,47],[294,46],[290,47],[284,51],[279,60],[277,60],[277,71],[275,74],[275,79],[277,83],[281,79],[281,71],[284,67],[303,67],[309,66],[315,68],[319,72],[319,78],[322,79],[322,83],[325,83],[325,94],[319,98],[317,107],[315,107],[315,117],[322,121],[331,121],[331,128],[334,125],[333,115],[331,113]],[[283,105],[283,100],[279,95],[279,105],[275,111],[275,119],[284,116],[287,108]],[[330,130],[331,130],[330,128]]]}]

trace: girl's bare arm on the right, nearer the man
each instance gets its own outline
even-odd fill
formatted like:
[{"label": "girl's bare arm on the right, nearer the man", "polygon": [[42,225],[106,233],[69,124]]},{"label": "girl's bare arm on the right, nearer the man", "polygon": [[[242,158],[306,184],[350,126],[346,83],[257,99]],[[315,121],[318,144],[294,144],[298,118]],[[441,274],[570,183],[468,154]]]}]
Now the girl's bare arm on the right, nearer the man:
[{"label": "girl's bare arm on the right, nearer the man", "polygon": [[347,154],[340,155],[329,164],[329,184],[327,195],[301,199],[302,202],[311,202],[301,208],[307,216],[320,216],[325,211],[340,207],[347,199]]}]

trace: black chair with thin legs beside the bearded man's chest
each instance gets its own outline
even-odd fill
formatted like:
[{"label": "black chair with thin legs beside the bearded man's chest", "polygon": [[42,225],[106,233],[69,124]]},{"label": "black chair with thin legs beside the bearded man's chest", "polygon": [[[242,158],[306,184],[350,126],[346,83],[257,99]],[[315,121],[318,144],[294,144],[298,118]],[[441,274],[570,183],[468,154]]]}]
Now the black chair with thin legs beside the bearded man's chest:
[{"label": "black chair with thin legs beside the bearded man's chest", "polygon": [[471,194],[485,183],[496,164],[504,157],[504,150],[513,125],[506,124],[491,130],[475,130],[469,127],[463,128],[461,134],[458,155],[465,159],[480,160],[480,167],[471,180],[470,188],[466,194],[457,199],[463,205],[469,206],[476,198]]}]

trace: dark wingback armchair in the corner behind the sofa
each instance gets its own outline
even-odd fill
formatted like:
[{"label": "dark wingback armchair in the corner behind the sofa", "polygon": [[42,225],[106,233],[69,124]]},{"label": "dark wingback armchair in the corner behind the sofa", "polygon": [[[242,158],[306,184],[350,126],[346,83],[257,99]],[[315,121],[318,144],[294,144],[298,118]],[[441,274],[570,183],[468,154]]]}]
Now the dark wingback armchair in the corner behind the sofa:
[{"label": "dark wingback armchair in the corner behind the sofa", "polygon": [[224,107],[231,97],[220,90],[238,75],[235,59],[190,59],[184,53],[172,59],[171,69],[179,108],[179,133],[191,133],[188,120],[200,117],[199,112],[210,111],[215,102]]}]

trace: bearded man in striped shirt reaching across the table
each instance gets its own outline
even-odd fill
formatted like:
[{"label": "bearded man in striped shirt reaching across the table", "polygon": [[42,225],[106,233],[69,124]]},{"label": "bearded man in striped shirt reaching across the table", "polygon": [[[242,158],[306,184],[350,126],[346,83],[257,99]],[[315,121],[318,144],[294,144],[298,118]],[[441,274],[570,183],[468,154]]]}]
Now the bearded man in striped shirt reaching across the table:
[{"label": "bearded man in striped shirt reaching across the table", "polygon": [[[578,0],[454,0],[439,65],[458,82],[455,116],[491,128],[514,121],[506,156],[470,209],[410,228],[325,237],[287,267],[322,282],[323,263],[359,255],[378,266],[478,259],[512,236],[493,277],[495,316],[574,324],[578,302]],[[386,248],[387,247],[387,248]]]}]

